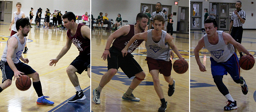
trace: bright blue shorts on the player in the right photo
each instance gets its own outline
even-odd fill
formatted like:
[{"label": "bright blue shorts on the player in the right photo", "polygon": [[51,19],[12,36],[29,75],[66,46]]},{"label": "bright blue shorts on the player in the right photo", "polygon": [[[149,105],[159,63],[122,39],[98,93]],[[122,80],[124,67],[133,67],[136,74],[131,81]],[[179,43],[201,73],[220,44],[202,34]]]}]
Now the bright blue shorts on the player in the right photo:
[{"label": "bright blue shorts on the player in the right photo", "polygon": [[210,60],[212,77],[230,74],[233,80],[240,79],[240,66],[236,53],[234,53],[226,62],[217,63],[212,57]]}]

